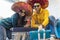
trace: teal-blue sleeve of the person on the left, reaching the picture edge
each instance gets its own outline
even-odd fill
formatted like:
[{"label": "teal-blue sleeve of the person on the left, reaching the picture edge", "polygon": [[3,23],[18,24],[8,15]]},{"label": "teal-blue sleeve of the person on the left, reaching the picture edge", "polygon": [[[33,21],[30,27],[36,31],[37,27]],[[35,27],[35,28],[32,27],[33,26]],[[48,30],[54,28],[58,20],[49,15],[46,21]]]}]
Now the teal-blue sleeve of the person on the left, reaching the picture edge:
[{"label": "teal-blue sleeve of the person on the left, reaching the picture edge", "polygon": [[4,26],[6,29],[9,29],[9,28],[13,27],[13,25],[15,25],[15,23],[16,23],[15,17],[16,17],[16,14],[13,14],[9,18],[1,19],[0,20],[0,25]]}]

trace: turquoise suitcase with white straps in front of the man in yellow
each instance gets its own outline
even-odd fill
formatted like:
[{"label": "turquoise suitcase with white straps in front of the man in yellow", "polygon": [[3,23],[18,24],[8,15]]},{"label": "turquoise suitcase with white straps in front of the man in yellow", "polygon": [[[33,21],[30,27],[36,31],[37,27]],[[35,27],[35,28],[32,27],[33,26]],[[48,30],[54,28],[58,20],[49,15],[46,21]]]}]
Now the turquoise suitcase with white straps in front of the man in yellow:
[{"label": "turquoise suitcase with white straps in front of the man in yellow", "polygon": [[[40,39],[43,39],[43,34],[44,34],[44,31],[43,30],[40,30]],[[50,38],[50,34],[51,34],[51,31],[50,30],[45,30],[45,38]],[[30,35],[30,40],[38,40],[38,31],[30,31],[29,32],[29,35]]]}]

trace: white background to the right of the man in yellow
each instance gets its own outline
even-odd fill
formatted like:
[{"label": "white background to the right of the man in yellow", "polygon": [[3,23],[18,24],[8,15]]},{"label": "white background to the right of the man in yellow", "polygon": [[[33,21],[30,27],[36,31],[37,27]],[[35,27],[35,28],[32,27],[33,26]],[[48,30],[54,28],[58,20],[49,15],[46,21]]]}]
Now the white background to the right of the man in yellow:
[{"label": "white background to the right of the man in yellow", "polygon": [[60,0],[49,0],[48,10],[50,15],[54,15],[56,18],[60,17]]}]

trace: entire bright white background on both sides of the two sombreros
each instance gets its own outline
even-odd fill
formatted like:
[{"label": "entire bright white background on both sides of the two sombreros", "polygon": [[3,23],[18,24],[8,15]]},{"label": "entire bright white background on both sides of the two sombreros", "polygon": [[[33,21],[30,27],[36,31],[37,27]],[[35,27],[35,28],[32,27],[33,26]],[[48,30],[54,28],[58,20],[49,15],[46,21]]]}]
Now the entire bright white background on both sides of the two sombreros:
[{"label": "entire bright white background on both sides of the two sombreros", "polygon": [[[11,6],[14,2],[23,1],[26,2],[27,0],[0,0],[0,18],[7,18],[14,14],[11,10]],[[60,17],[60,0],[49,0],[48,10],[50,15],[55,16],[55,18]]]}]

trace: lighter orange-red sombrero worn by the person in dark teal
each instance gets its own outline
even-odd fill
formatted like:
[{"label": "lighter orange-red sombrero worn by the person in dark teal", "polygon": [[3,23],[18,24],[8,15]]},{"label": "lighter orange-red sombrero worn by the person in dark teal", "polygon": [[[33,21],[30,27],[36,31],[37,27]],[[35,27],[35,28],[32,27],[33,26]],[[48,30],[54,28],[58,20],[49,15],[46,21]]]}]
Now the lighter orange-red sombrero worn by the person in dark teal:
[{"label": "lighter orange-red sombrero worn by the person in dark teal", "polygon": [[12,5],[12,10],[15,12],[19,12],[20,10],[25,10],[27,12],[27,16],[32,15],[32,7],[28,3],[25,2],[17,2]]}]

